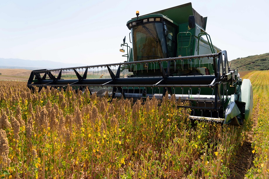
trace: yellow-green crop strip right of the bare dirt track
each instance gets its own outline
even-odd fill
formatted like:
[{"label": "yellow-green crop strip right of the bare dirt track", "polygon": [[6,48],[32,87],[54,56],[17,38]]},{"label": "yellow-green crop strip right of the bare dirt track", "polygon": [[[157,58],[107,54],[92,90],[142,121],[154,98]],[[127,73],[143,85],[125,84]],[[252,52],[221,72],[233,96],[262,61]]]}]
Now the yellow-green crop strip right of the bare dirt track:
[{"label": "yellow-green crop strip right of the bare dirt track", "polygon": [[[256,71],[247,74],[244,78],[250,78],[258,113],[254,114],[257,126],[254,128],[253,153],[254,166],[246,173],[246,178],[269,177],[269,71]],[[255,105],[255,104],[254,104]]]}]

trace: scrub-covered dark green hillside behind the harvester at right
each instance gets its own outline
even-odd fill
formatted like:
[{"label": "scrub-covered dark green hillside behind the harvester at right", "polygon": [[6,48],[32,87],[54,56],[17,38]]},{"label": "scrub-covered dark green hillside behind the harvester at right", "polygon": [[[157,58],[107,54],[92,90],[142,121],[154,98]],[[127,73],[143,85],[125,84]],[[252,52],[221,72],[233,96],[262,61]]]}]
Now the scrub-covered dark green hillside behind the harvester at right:
[{"label": "scrub-covered dark green hillside behind the harvester at right", "polygon": [[268,70],[269,69],[269,53],[261,55],[253,55],[244,58],[232,60],[231,68],[239,69],[240,71],[247,70]]}]

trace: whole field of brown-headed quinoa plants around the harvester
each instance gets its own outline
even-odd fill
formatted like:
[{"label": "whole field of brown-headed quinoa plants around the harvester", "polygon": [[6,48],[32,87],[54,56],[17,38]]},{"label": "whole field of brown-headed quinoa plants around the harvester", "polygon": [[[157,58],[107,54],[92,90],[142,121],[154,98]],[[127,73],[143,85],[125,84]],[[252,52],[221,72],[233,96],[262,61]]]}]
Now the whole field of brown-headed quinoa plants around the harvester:
[{"label": "whole field of brown-headed quinoa plants around the harvester", "polygon": [[[242,127],[192,122],[168,95],[108,102],[87,89],[32,93],[26,82],[0,81],[0,177],[268,178],[269,71],[243,78],[254,114]],[[239,172],[247,141],[252,157]]]}]

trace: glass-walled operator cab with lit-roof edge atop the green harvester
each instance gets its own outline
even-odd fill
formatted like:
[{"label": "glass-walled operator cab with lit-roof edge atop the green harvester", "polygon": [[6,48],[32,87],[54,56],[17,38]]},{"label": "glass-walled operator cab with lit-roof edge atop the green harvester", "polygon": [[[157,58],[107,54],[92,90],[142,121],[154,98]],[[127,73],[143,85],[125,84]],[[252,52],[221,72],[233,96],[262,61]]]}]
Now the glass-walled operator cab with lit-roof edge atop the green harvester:
[{"label": "glass-walled operator cab with lit-roof edge atop the green harvester", "polygon": [[131,30],[133,61],[176,56],[177,24],[161,14],[151,14],[127,22]]}]

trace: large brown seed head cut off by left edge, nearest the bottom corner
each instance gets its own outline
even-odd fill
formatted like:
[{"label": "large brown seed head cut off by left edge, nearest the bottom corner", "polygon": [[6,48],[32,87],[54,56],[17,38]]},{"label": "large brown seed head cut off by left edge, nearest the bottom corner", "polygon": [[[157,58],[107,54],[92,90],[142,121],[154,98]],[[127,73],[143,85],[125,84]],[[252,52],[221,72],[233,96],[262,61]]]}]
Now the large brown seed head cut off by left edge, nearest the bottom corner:
[{"label": "large brown seed head cut off by left edge, nearest the bottom corner", "polygon": [[0,129],[0,171],[8,168],[11,160],[8,158],[9,146],[6,131]]}]

